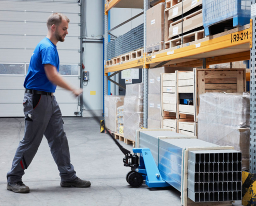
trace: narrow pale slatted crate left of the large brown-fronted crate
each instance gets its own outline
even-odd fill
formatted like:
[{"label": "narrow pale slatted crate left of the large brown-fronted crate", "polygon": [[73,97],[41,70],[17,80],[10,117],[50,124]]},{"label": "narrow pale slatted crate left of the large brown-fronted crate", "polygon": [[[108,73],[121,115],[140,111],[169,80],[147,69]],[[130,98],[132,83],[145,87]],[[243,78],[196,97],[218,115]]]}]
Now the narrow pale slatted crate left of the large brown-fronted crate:
[{"label": "narrow pale slatted crate left of the large brown-fronted crate", "polygon": [[177,71],[170,74],[161,73],[160,82],[161,116],[175,116],[177,118]]}]

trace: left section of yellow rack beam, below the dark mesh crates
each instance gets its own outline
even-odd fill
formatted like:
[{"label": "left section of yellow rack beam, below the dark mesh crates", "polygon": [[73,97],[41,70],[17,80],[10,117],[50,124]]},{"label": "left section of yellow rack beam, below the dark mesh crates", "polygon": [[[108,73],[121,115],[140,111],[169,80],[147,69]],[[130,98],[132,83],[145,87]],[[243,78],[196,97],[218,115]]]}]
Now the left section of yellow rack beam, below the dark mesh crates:
[{"label": "left section of yellow rack beam, below the dark mesh crates", "polygon": [[126,70],[127,68],[138,68],[138,67],[143,67],[144,65],[144,59],[140,58],[137,60],[130,60],[126,63],[121,63],[118,65],[113,65],[113,66],[105,66],[105,73],[108,72],[116,72],[116,71],[121,71],[121,70]]}]

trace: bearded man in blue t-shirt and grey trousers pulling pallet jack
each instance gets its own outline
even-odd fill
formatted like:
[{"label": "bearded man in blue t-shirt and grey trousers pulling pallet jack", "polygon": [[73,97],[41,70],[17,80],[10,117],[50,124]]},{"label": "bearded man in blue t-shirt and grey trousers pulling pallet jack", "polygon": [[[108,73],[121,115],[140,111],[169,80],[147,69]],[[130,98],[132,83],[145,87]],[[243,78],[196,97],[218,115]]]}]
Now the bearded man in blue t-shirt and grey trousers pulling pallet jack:
[{"label": "bearded man in blue t-shirt and grey trousers pulling pallet jack", "polygon": [[[25,134],[14,156],[11,170],[7,173],[7,190],[28,193],[22,183],[24,170],[31,164],[37,149],[46,136],[61,176],[62,187],[89,187],[91,182],[76,176],[70,163],[69,147],[63,129],[62,113],[53,96],[56,85],[71,91],[75,96],[81,89],[71,87],[58,74],[59,58],[56,44],[64,42],[68,34],[69,19],[62,13],[53,13],[47,20],[48,35],[36,46],[25,78],[23,100]],[[47,161],[44,163],[47,164]]]}]

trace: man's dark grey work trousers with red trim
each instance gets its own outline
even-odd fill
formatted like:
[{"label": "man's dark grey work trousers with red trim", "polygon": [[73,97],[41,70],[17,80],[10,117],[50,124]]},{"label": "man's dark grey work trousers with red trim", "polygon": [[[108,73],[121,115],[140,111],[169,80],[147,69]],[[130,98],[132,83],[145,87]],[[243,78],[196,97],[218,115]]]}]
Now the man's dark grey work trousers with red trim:
[{"label": "man's dark grey work trousers with red trim", "polygon": [[[74,167],[70,163],[62,113],[55,96],[25,93],[23,107],[25,134],[14,156],[11,170],[7,173],[7,181],[9,183],[21,181],[24,170],[31,164],[36,155],[43,135],[48,140],[61,180],[74,180],[77,177],[76,171],[74,171]],[[47,160],[42,163],[42,168],[43,164],[47,164]]]}]

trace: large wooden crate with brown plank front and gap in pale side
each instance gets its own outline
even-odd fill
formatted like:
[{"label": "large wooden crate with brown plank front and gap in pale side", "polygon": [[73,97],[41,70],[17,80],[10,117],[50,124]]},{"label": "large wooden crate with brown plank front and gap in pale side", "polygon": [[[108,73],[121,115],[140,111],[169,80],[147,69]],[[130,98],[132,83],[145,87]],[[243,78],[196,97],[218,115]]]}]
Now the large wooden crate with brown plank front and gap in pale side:
[{"label": "large wooden crate with brown plank front and gap in pale side", "polygon": [[[206,92],[244,92],[246,91],[246,77],[244,68],[228,69],[198,69],[191,72],[177,73],[177,116],[180,114],[194,116],[197,122],[199,113],[199,95]],[[192,93],[193,105],[179,104],[180,93]]]}]

